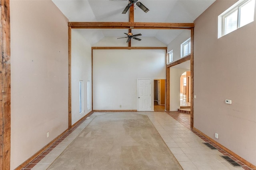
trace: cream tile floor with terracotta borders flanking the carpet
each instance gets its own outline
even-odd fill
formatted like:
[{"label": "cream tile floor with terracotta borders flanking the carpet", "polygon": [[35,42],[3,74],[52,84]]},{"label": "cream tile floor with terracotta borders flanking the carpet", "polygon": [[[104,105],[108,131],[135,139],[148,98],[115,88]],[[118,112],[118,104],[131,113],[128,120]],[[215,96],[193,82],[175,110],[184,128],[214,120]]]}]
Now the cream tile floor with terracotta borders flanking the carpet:
[{"label": "cream tile floor with terracotta borders flanking the carpet", "polygon": [[[84,119],[22,170],[46,170],[90,121],[101,114],[106,113],[95,112],[90,118]],[[251,170],[194,130],[190,130],[189,114],[179,112],[138,112],[138,114],[148,116],[184,170]],[[202,142],[209,142],[218,150],[211,150]],[[220,155],[230,156],[242,167],[233,167]]]}]

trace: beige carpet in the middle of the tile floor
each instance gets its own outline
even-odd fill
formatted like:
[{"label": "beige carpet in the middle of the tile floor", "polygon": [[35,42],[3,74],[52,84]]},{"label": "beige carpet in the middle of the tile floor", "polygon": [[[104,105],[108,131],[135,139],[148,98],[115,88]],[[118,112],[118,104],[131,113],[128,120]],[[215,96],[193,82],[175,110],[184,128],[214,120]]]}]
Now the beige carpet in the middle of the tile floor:
[{"label": "beige carpet in the middle of the tile floor", "polygon": [[96,116],[48,170],[182,170],[148,116]]}]

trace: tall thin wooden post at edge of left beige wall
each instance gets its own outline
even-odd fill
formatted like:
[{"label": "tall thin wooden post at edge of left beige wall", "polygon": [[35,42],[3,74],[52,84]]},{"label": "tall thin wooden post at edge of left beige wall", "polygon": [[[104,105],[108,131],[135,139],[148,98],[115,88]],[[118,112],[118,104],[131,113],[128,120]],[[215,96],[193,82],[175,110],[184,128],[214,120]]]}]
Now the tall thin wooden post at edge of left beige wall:
[{"label": "tall thin wooden post at edge of left beige wall", "polygon": [[71,108],[71,26],[68,27],[68,129],[72,128]]}]

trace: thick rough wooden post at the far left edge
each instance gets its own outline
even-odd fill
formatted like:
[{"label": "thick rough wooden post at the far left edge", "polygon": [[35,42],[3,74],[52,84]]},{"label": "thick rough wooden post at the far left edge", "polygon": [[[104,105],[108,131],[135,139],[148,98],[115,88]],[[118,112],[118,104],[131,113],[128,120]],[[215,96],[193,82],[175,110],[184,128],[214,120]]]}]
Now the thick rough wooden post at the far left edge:
[{"label": "thick rough wooden post at the far left edge", "polygon": [[10,66],[10,1],[1,0],[0,21],[0,169],[10,170],[11,144],[11,66]]}]

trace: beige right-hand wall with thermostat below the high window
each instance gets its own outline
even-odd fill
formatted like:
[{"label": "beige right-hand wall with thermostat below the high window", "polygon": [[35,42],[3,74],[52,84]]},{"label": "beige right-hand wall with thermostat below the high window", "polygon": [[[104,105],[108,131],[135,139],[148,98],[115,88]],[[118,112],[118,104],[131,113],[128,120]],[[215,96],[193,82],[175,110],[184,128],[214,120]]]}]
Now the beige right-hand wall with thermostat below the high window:
[{"label": "beige right-hand wall with thermostat below the high window", "polygon": [[256,22],[217,38],[235,2],[217,0],[194,22],[194,127],[256,165]]}]

